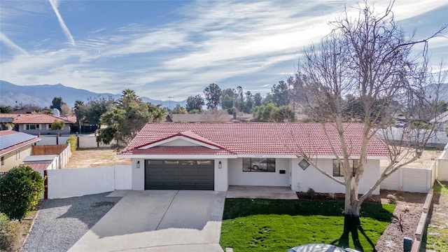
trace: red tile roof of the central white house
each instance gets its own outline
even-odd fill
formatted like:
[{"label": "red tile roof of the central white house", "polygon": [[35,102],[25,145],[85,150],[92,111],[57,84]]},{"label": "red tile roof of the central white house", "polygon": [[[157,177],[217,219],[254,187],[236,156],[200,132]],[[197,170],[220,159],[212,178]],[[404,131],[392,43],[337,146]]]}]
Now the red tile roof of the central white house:
[{"label": "red tile roof of the central white house", "polygon": [[[351,155],[360,155],[363,125],[353,123],[344,127]],[[335,151],[342,154],[335,126],[325,125],[325,129]],[[148,123],[120,154],[146,154],[141,150],[142,146],[169,139],[181,132],[192,132],[200,136],[197,141],[205,142],[203,139],[207,139],[221,146],[221,151],[238,155],[335,155],[319,123]],[[367,155],[388,156],[389,151],[386,144],[373,135],[367,143]]]}]

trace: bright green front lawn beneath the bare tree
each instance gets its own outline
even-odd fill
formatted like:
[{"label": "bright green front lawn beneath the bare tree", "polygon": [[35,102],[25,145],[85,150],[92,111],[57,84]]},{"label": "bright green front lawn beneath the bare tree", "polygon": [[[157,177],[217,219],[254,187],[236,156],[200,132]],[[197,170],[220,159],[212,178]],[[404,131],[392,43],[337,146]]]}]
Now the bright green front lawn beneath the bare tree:
[{"label": "bright green front lawn beneath the bare tree", "polygon": [[[337,245],[344,228],[343,208],[344,202],[333,201],[226,199],[221,246],[235,252],[284,252],[301,244]],[[359,233],[359,237],[364,251],[373,251],[393,209],[395,205],[363,204],[365,236]]]}]

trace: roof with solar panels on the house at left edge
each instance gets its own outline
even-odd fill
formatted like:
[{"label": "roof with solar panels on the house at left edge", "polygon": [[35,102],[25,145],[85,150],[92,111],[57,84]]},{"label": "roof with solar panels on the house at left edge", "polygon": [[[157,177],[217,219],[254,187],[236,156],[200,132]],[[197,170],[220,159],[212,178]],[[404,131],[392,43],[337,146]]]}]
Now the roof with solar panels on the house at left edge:
[{"label": "roof with solar panels on the house at left edge", "polygon": [[0,131],[0,155],[5,155],[24,146],[34,144],[37,141],[41,141],[41,139],[31,134],[2,130]]}]

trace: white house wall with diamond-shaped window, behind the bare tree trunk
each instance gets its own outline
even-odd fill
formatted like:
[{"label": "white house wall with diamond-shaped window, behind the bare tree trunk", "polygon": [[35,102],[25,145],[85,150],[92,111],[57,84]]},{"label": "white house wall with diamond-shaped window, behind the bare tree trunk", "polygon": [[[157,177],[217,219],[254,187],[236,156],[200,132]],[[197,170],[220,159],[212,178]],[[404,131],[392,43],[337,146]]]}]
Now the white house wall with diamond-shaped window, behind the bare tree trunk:
[{"label": "white house wall with diamond-shaped window, behind the bare tree trunk", "polygon": [[[316,193],[345,193],[345,186],[332,181],[328,177],[318,172],[311,165],[303,170],[297,164],[301,159],[291,159],[292,177],[291,189],[297,192],[306,192],[308,188],[312,188]],[[332,174],[332,159],[319,159],[317,165],[328,174]],[[379,160],[367,160],[363,178],[359,183],[359,193],[365,193],[379,179]],[[341,181],[343,177],[337,177]],[[379,194],[379,186],[374,190],[374,195]]]}]

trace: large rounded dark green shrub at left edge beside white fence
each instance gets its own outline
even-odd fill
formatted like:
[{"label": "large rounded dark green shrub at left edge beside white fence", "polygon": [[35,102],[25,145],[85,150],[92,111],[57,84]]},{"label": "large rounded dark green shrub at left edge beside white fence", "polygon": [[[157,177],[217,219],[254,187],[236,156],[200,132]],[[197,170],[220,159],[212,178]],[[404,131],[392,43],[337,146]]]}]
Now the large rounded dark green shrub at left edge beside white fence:
[{"label": "large rounded dark green shrub at left edge beside white fence", "polygon": [[18,166],[0,178],[0,211],[21,220],[36,207],[43,194],[43,178],[29,166]]}]

